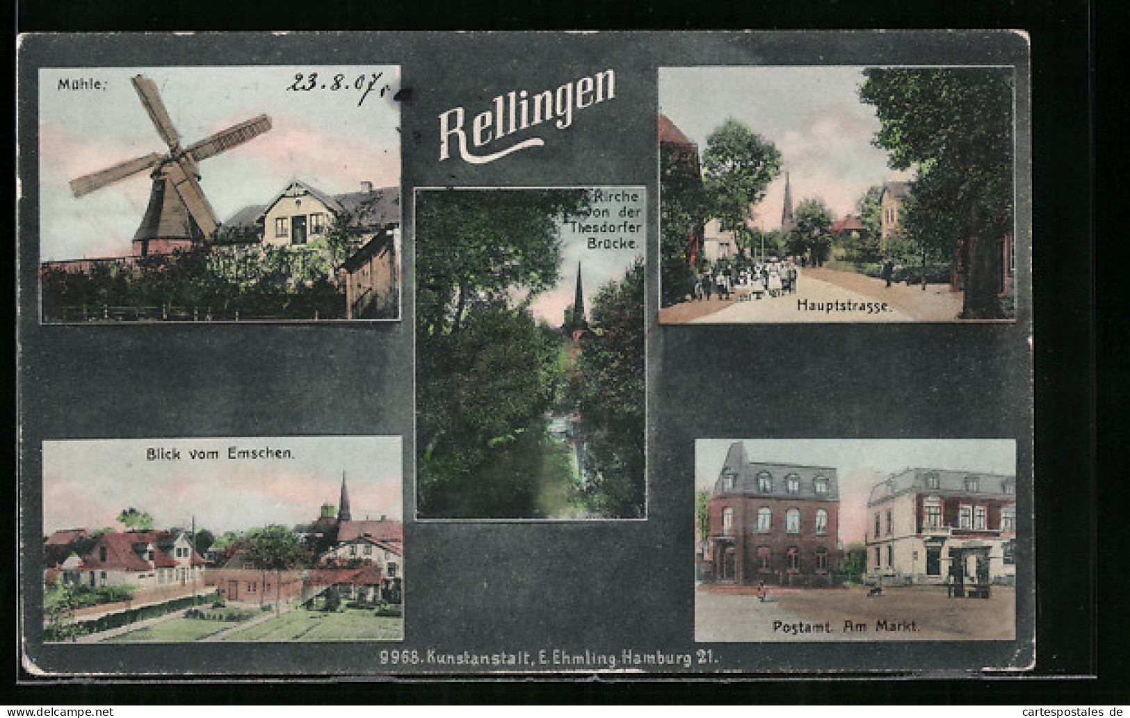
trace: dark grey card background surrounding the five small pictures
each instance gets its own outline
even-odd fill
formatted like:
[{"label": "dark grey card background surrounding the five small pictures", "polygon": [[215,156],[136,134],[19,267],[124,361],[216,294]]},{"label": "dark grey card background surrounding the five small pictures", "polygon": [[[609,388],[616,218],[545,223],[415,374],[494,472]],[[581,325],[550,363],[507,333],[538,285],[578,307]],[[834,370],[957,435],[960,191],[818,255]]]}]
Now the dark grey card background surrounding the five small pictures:
[{"label": "dark grey card background surrounding the five small pictures", "polygon": [[[647,189],[658,308],[657,69],[694,64],[1016,65],[1027,131],[1027,45],[1009,33],[363,34],[26,37],[19,55],[24,200],[18,297],[21,615],[43,671],[232,675],[451,672],[382,666],[381,650],[619,654],[713,648],[715,672],[965,671],[1028,666],[1032,523],[1020,522],[1015,642],[696,645],[697,438],[1015,438],[1032,475],[1029,184],[1018,176],[1015,324],[669,326],[649,335],[649,518],[546,524],[406,523],[402,643],[44,646],[40,444],[66,438],[399,435],[412,515],[411,200],[416,186]],[[40,67],[397,63],[402,107],[405,321],[286,326],[40,326]],[[542,125],[546,146],[470,166],[438,159],[437,115],[468,125],[493,97],[614,69],[616,98]],[[253,71],[253,70],[249,70]],[[281,88],[280,88],[281,89]],[[1027,152],[1018,158],[1026,166]],[[1018,516],[1032,516],[1031,490]],[[314,507],[312,507],[314,508]]]}]

